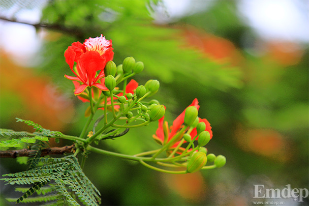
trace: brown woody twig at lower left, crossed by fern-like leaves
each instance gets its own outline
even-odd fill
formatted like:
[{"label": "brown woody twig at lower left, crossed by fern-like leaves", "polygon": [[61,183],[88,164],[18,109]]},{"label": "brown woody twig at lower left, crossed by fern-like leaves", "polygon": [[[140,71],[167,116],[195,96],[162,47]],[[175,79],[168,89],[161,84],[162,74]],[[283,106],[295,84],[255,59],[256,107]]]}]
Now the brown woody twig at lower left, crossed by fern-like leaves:
[{"label": "brown woody twig at lower left, crossed by fern-like leaves", "polygon": [[[75,146],[65,146],[65,147],[51,147],[44,148],[41,150],[41,157],[49,155],[49,154],[64,154],[64,153],[72,153],[75,150]],[[5,150],[0,151],[0,158],[16,158],[16,157],[28,157],[36,150],[30,149],[19,149],[19,150]]]}]

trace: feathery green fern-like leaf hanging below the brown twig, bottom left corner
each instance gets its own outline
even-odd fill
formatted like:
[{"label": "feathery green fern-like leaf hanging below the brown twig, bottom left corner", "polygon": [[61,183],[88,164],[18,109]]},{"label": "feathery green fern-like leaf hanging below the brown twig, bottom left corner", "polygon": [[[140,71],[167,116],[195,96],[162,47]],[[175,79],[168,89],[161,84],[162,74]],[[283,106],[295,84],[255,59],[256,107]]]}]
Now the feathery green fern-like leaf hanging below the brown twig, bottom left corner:
[{"label": "feathery green fern-like leaf hanging below the brown twig, bottom left corner", "polygon": [[[3,176],[8,178],[0,179],[7,184],[33,184],[30,188],[16,189],[24,193],[16,200],[17,203],[51,201],[53,205],[73,206],[97,206],[100,203],[99,191],[82,172],[77,158],[73,155],[62,158],[36,157],[33,160],[36,162],[33,169],[6,174]],[[43,166],[37,166],[39,162],[42,162]],[[45,187],[48,182],[49,186]],[[55,192],[57,194],[53,194]],[[34,193],[38,196],[29,198]]]}]

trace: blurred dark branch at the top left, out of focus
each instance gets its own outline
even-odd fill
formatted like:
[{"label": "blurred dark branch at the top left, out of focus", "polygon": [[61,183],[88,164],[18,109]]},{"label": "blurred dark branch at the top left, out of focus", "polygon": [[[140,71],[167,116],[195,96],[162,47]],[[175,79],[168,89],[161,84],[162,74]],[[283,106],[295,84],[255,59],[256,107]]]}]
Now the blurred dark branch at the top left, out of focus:
[{"label": "blurred dark branch at the top left, out of focus", "polygon": [[78,28],[66,28],[66,27],[63,27],[62,25],[58,25],[58,24],[41,24],[41,23],[31,24],[29,22],[18,21],[16,19],[8,19],[8,18],[3,17],[3,16],[0,16],[0,20],[30,25],[30,26],[35,27],[36,29],[37,28],[46,28],[46,29],[59,30],[59,31],[62,31],[64,33],[68,33],[70,35],[75,34],[78,37],[83,37],[83,32]]}]

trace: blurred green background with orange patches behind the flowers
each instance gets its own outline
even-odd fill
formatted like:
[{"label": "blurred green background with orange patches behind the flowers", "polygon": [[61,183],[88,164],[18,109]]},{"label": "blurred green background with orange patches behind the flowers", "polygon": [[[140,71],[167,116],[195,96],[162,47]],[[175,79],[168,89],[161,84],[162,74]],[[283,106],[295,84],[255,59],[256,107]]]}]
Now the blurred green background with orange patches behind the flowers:
[{"label": "blurred green background with orange patches behind the flowers", "polygon": [[[63,52],[101,33],[113,41],[116,64],[128,56],[144,62],[139,84],[160,81],[154,98],[170,123],[198,98],[214,133],[208,151],[227,164],[169,175],[90,154],[85,173],[102,205],[252,205],[253,184],[308,188],[308,1],[0,0],[0,11],[1,128],[31,131],[18,117],[79,135],[88,105],[63,78],[71,72]],[[131,129],[101,147],[157,148],[156,127]],[[25,168],[0,162],[1,174]],[[0,186],[0,204],[8,205],[14,188]]]}]

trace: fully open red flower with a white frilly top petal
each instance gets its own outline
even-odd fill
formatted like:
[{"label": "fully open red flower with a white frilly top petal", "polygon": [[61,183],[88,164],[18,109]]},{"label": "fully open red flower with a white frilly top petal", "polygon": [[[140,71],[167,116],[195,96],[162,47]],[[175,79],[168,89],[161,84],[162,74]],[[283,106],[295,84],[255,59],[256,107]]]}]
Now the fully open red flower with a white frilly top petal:
[{"label": "fully open red flower with a white frilly top petal", "polygon": [[[107,61],[113,60],[114,52],[112,40],[106,40],[101,36],[89,38],[80,42],[73,42],[64,52],[66,63],[70,66],[76,77],[64,75],[65,78],[79,82],[75,85],[75,95],[81,94],[88,87],[96,87],[101,90],[108,90],[101,81],[104,77],[104,67]],[[76,68],[74,67],[76,62]],[[97,71],[99,73],[97,74]]]}]

